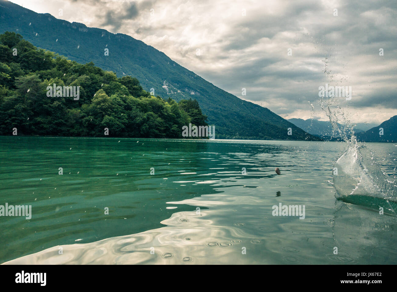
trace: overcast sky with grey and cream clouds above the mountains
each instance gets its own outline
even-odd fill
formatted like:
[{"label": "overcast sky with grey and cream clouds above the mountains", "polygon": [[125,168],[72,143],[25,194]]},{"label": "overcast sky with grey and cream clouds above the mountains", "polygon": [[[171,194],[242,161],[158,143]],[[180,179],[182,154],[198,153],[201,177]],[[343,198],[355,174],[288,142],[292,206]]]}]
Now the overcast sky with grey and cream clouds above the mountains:
[{"label": "overcast sky with grey and cream clouds above the mountains", "polygon": [[283,118],[326,120],[318,97],[325,83],[352,87],[342,104],[352,122],[380,124],[397,114],[396,0],[12,2],[130,35]]}]

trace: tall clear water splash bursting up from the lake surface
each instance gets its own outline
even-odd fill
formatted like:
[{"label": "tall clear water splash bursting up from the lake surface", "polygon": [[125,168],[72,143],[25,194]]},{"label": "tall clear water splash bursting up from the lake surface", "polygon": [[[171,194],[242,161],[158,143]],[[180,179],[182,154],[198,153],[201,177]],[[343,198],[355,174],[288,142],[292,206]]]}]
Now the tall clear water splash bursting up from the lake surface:
[{"label": "tall clear water splash bursting up from the lake surface", "polygon": [[[328,71],[327,58],[324,63],[325,70],[323,72],[330,82],[333,82],[334,75]],[[396,215],[397,186],[395,180],[384,173],[376,161],[374,153],[365,144],[357,142],[353,129],[355,124],[349,120],[346,100],[337,97],[323,97],[320,103],[322,110],[330,119],[332,135],[341,137],[347,143],[347,149],[337,159],[333,168],[333,186],[336,190],[336,198],[374,209],[383,207],[385,213]]]}]

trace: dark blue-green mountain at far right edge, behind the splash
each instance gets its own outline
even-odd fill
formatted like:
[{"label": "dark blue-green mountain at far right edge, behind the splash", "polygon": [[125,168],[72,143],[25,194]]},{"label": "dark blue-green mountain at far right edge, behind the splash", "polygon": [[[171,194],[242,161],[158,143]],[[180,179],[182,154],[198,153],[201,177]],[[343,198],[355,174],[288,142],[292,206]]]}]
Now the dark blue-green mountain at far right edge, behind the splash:
[{"label": "dark blue-green mountain at far right edge, behind the splash", "polygon": [[[383,135],[380,135],[382,133]],[[366,142],[397,142],[397,116],[389,118],[377,127],[357,134],[358,141]]]}]

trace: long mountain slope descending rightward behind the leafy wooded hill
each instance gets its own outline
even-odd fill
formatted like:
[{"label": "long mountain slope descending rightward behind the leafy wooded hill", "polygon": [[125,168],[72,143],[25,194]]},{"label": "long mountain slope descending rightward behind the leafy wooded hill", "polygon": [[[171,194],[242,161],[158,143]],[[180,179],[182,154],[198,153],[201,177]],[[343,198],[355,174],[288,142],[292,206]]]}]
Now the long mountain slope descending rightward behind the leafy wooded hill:
[{"label": "long mountain slope descending rightward behind the leafy wooded hill", "polygon": [[[131,75],[154,95],[197,99],[208,124],[216,126],[216,138],[315,140],[268,108],[239,99],[183,68],[164,53],[142,41],[104,29],[70,23],[50,14],[38,14],[0,0],[0,33],[14,31],[39,48],[79,63],[94,62],[118,77]],[[105,56],[105,49],[109,55]],[[287,135],[288,128],[292,135]]]}]

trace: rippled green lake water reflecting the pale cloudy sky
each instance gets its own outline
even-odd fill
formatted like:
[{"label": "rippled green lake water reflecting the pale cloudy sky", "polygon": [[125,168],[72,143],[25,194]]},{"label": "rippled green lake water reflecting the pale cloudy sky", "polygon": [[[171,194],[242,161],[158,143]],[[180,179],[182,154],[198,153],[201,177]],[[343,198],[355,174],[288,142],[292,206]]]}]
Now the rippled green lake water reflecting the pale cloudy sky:
[{"label": "rippled green lake water reflecting the pale cloudy sky", "polygon": [[[396,264],[395,214],[335,199],[346,147],[0,137],[0,205],[32,206],[0,217],[0,263]],[[367,147],[393,181],[395,144]]]}]

